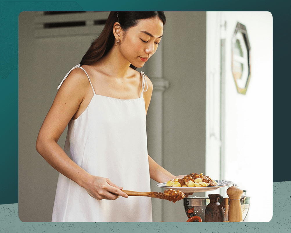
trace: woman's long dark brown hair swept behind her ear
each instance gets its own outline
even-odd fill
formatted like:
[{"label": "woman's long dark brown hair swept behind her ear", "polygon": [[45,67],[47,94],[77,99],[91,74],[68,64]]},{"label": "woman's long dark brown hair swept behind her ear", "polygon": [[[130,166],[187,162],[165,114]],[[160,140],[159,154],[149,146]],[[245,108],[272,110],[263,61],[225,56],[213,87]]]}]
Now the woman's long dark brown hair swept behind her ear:
[{"label": "woman's long dark brown hair swept behind her ear", "polygon": [[[117,17],[118,14],[118,17]],[[111,11],[101,34],[93,41],[88,51],[83,56],[80,65],[91,65],[100,58],[107,55],[112,48],[115,37],[113,34],[113,25],[119,22],[123,31],[137,25],[141,19],[159,17],[163,24],[166,23],[166,17],[163,11]],[[136,69],[133,65],[130,65]]]}]

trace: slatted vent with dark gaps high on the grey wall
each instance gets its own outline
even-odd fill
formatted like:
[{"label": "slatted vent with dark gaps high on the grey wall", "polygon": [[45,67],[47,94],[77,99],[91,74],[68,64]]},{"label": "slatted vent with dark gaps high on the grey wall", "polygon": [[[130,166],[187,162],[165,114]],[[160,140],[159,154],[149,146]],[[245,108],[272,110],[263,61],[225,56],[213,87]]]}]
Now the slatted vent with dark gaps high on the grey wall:
[{"label": "slatted vent with dark gaps high on the grey wall", "polygon": [[104,28],[108,15],[109,11],[36,12],[34,36],[96,35]]}]

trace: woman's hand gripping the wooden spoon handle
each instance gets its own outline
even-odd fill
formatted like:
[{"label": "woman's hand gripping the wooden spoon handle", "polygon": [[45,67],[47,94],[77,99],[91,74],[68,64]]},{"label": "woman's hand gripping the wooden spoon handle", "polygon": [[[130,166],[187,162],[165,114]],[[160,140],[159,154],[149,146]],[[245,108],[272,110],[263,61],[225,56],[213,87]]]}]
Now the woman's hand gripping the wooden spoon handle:
[{"label": "woman's hand gripping the wooden spoon handle", "polygon": [[92,176],[88,184],[83,186],[91,197],[98,201],[102,199],[116,200],[119,196],[128,197],[122,192],[122,187],[113,184],[108,178]]}]

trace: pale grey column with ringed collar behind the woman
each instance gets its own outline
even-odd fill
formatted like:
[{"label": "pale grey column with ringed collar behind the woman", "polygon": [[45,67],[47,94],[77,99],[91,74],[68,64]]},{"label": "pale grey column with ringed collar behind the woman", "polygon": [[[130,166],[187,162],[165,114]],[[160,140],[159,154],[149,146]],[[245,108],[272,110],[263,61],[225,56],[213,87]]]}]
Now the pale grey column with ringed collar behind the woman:
[{"label": "pale grey column with ringed collar behind the woman", "polygon": [[[147,113],[148,153],[159,165],[163,166],[163,92],[168,88],[168,81],[162,77],[162,46],[160,44],[156,53],[148,60],[146,75],[153,84],[152,98]],[[151,180],[151,190],[163,192],[156,187],[157,182]],[[162,221],[163,200],[152,199],[153,221]]]}]

